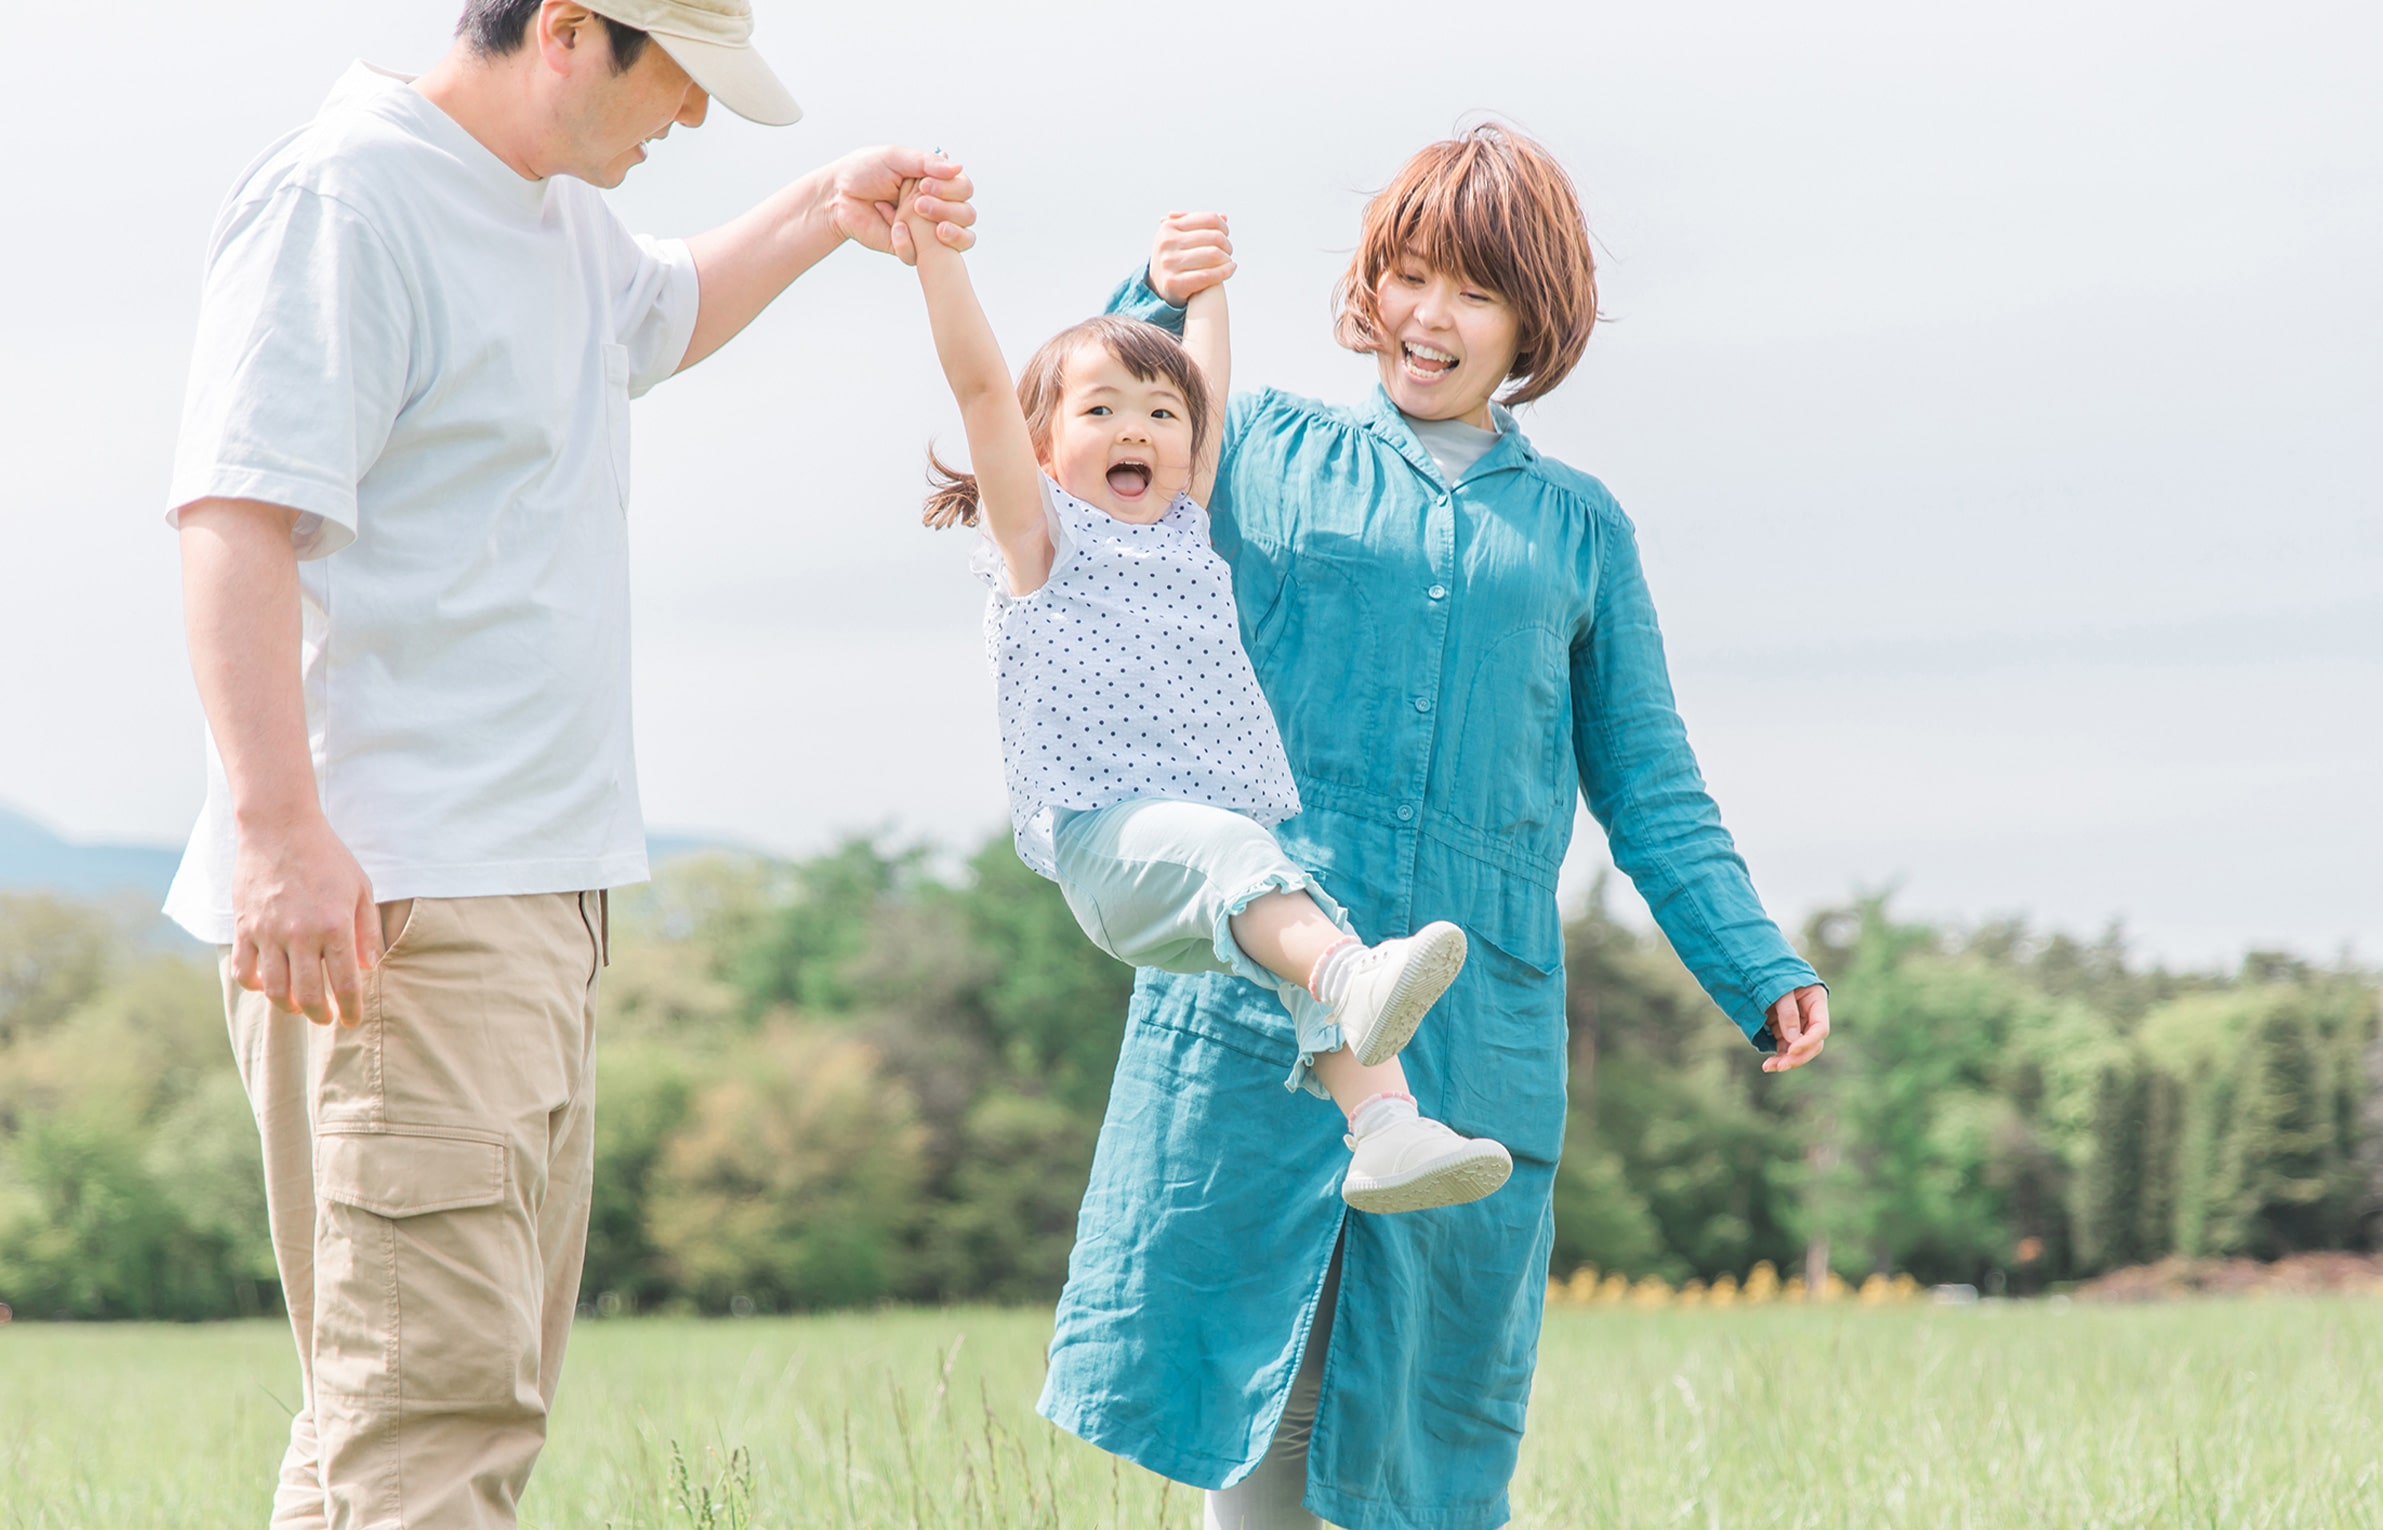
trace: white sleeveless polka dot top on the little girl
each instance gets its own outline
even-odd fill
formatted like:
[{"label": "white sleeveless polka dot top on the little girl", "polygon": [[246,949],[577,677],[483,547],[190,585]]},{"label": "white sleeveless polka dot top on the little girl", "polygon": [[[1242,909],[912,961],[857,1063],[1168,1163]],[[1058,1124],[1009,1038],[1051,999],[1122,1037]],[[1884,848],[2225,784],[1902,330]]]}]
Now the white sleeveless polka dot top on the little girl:
[{"label": "white sleeveless polka dot top on the little girl", "polygon": [[1141,796],[1277,825],[1299,813],[1282,734],[1242,651],[1232,570],[1208,512],[1175,496],[1141,527],[1044,479],[1051,579],[1013,596],[1001,551],[970,567],[991,586],[984,651],[1001,694],[1001,760],[1018,858],[1051,877],[1060,808]]}]

